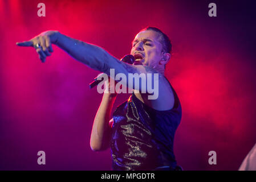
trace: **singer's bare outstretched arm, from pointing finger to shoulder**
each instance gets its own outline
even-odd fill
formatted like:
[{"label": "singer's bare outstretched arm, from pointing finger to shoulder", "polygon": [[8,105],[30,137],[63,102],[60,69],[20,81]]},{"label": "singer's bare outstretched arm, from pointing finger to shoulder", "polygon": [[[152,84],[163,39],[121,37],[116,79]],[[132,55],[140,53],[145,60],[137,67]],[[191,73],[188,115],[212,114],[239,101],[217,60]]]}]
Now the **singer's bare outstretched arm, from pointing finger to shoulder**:
[{"label": "singer's bare outstretched arm, from pointing finger to shoulder", "polygon": [[[148,84],[154,85],[154,97],[149,98],[148,105],[157,110],[167,110],[172,108],[174,97],[172,89],[170,88],[168,82],[165,80],[164,76],[161,74],[157,75],[155,80],[155,69],[146,66],[146,65],[131,65],[124,63],[110,55],[103,48],[98,46],[82,42],[80,40],[72,39],[66,35],[60,34],[58,31],[46,31],[42,32],[38,36],[35,36],[29,41],[22,43],[17,43],[18,46],[25,47],[34,47],[36,44],[40,44],[42,48],[36,47],[36,52],[38,52],[40,60],[42,62],[46,61],[46,57],[50,56],[52,52],[51,44],[56,44],[56,46],[62,48],[76,60],[80,61],[83,64],[86,64],[88,67],[95,69],[100,72],[107,73],[108,76],[111,76],[115,80],[115,76],[118,73],[122,73],[126,78],[129,78],[129,73],[133,76],[137,73],[144,73],[145,80],[144,82],[140,81],[139,84],[135,84],[135,78],[132,79],[121,79],[120,83],[126,85],[130,89],[138,90],[141,93],[152,94],[152,90],[149,92]],[[115,69],[115,75],[110,74],[110,69]],[[149,74],[149,77],[148,77]],[[151,77],[150,77],[151,76]],[[145,84],[147,83],[147,84]],[[155,86],[157,87],[155,89]],[[156,93],[155,94],[155,90]]]}]

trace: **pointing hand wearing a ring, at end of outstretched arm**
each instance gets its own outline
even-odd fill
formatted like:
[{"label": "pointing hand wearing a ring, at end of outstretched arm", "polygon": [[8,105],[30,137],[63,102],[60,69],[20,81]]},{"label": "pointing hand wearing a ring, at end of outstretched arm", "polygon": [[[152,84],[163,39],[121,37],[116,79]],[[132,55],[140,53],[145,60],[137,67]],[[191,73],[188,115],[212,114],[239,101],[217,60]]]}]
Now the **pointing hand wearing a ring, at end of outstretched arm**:
[{"label": "pointing hand wearing a ring, at end of outstretched arm", "polygon": [[35,36],[34,38],[25,41],[17,42],[17,46],[34,47],[39,55],[39,59],[44,63],[47,56],[51,56],[53,52],[51,44],[55,44],[58,40],[58,31],[45,31]]}]

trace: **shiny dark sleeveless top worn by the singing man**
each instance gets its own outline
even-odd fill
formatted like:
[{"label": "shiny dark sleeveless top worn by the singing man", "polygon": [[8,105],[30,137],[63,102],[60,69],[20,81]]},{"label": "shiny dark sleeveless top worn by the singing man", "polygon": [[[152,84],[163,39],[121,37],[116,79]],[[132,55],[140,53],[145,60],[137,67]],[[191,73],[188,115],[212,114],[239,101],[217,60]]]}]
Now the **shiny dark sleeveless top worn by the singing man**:
[{"label": "shiny dark sleeveless top worn by the singing man", "polygon": [[173,141],[181,121],[181,104],[172,90],[174,106],[170,110],[155,110],[141,102],[134,93],[116,108],[110,140],[113,170],[176,167]]}]

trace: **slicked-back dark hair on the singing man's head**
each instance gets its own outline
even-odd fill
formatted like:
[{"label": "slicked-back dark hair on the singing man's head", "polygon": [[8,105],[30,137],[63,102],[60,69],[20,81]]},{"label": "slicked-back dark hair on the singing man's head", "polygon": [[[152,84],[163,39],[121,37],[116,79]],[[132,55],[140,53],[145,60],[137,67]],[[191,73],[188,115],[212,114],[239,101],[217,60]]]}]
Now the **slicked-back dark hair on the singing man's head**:
[{"label": "slicked-back dark hair on the singing man's head", "polygon": [[[159,28],[149,27],[149,26],[144,28],[141,31],[145,31],[145,30],[152,30],[152,31],[158,32],[161,35],[160,43],[162,44],[163,51],[165,53],[171,53],[172,52],[172,43],[170,42],[169,37],[166,34],[164,34],[164,32],[162,32]],[[165,68],[165,65],[164,65],[164,68]]]}]

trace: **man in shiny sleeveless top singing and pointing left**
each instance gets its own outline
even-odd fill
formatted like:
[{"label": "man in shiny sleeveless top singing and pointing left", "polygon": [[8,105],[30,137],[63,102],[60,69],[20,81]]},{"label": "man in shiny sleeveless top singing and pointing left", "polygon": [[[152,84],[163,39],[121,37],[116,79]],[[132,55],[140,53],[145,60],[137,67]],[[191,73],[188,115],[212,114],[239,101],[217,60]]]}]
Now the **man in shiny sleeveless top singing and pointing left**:
[{"label": "man in shiny sleeveless top singing and pointing left", "polygon": [[[168,36],[155,27],[141,30],[132,43],[131,55],[136,59],[132,65],[116,59],[100,47],[69,38],[58,31],[42,32],[29,41],[17,43],[18,46],[34,47],[43,63],[53,51],[51,44],[109,76],[111,68],[115,69],[115,75],[123,73],[127,78],[128,73],[159,73],[159,96],[155,100],[148,99],[150,93],[140,83],[139,93],[133,92],[127,101],[117,107],[112,119],[110,113],[116,94],[103,94],[94,119],[90,144],[94,151],[111,148],[113,170],[181,169],[173,154],[174,133],[181,120],[181,105],[164,76],[165,64],[170,60],[172,49]],[[125,86],[135,89],[134,84]]]}]

